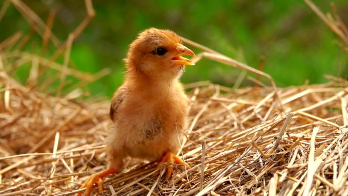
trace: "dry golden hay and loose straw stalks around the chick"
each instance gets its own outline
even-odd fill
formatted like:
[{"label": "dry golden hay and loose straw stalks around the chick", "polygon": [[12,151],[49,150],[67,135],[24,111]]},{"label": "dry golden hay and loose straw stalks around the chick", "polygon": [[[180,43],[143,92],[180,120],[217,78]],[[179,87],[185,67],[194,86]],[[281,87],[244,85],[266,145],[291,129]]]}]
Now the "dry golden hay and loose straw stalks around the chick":
[{"label": "dry golden hay and loose straw stalks around the chick", "polygon": [[[38,20],[21,1],[11,2],[23,15]],[[86,1],[86,7],[89,16],[94,15],[91,2]],[[88,23],[90,17],[85,20]],[[47,26],[39,25],[50,32]],[[0,43],[0,196],[72,195],[84,190],[77,188],[89,173],[102,171],[107,164],[104,142],[111,126],[110,101],[81,99],[81,88],[107,71],[93,76],[69,67],[76,34],[61,44],[52,33],[41,33],[46,35],[43,40],[57,43],[50,60],[11,49],[21,34]],[[190,127],[179,155],[191,168],[176,165],[175,175],[166,181],[162,175],[168,164],[158,171],[155,163],[130,161],[122,173],[106,178],[103,194],[348,194],[348,81],[327,76],[330,81],[323,85],[279,89],[269,75],[184,41],[205,51],[196,62],[208,57],[247,69],[269,78],[271,87],[255,79],[259,87],[186,85]],[[60,65],[54,59],[64,48]],[[27,61],[30,76],[21,84],[10,75]],[[56,74],[42,80],[47,70]],[[66,76],[81,82],[65,89]],[[56,80],[61,84],[53,88]]]}]

